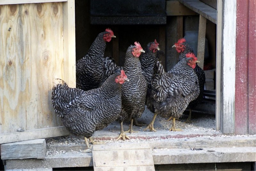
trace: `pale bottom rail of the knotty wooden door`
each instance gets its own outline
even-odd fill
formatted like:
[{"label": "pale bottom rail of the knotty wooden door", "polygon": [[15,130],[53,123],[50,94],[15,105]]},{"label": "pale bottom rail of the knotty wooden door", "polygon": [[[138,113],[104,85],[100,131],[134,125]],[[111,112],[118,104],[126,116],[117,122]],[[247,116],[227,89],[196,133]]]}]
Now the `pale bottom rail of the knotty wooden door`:
[{"label": "pale bottom rail of the knotty wooden door", "polygon": [[0,134],[0,144],[65,135],[69,135],[69,132],[63,126],[35,129],[24,132],[4,133]]}]

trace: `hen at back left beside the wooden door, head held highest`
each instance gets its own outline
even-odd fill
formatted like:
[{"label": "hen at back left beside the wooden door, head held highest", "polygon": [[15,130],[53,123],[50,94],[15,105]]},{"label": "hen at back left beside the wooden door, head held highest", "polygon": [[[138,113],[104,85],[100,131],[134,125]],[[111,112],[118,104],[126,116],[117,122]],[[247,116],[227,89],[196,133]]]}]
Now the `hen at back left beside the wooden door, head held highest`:
[{"label": "hen at back left beside the wooden door, head held highest", "polygon": [[109,28],[98,34],[87,54],[76,62],[76,88],[87,91],[101,85],[103,80],[101,61],[106,42],[110,42],[113,37],[116,36]]}]

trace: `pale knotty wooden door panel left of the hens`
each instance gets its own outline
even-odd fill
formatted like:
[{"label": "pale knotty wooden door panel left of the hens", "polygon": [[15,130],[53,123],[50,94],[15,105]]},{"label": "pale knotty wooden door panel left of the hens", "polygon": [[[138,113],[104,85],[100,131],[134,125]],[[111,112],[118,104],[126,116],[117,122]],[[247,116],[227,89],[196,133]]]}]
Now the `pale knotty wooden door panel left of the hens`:
[{"label": "pale knotty wooden door panel left of the hens", "polygon": [[75,1],[2,0],[0,32],[0,144],[67,135],[51,93],[76,86]]}]

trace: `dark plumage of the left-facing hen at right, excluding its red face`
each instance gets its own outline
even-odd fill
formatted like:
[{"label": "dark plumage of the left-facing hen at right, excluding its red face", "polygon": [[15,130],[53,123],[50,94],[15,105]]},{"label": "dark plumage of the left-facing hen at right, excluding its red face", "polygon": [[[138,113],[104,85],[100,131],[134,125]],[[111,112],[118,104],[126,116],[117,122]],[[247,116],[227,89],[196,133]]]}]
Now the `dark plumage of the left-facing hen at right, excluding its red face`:
[{"label": "dark plumage of the left-facing hen at right, excluding its red face", "polygon": [[[182,43],[182,44],[186,48],[183,52],[180,53],[179,61],[183,58],[186,58],[186,54],[188,52],[194,53],[193,48],[188,43]],[[204,83],[205,83],[204,70],[202,68],[200,68],[197,64],[196,64],[196,67],[194,70],[195,70],[197,78],[198,78],[200,93],[199,93],[199,96],[195,100],[193,100],[192,102],[189,103],[188,109],[194,109],[199,103],[201,103],[201,101],[203,100],[203,97],[204,97]]]}]

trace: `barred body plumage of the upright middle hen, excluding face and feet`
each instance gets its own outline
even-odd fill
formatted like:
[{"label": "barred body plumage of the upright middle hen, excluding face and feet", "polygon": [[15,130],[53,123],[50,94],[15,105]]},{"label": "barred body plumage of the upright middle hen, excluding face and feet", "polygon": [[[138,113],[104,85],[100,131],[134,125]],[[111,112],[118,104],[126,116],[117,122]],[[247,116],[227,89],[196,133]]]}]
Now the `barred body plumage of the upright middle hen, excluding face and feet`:
[{"label": "barred body plumage of the upright middle hen, excluding face and feet", "polygon": [[147,81],[142,74],[139,58],[132,55],[131,45],[128,47],[124,61],[124,72],[129,82],[122,85],[122,112],[118,121],[140,118],[145,110]]}]

